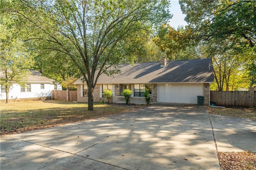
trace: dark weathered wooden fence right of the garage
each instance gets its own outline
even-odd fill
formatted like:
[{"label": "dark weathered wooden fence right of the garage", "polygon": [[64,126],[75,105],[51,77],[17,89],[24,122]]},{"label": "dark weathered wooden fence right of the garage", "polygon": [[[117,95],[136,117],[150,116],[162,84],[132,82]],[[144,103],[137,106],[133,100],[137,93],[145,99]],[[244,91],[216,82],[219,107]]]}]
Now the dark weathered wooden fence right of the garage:
[{"label": "dark weathered wooden fence right of the garage", "polygon": [[256,91],[210,91],[210,101],[217,106],[255,107]]}]

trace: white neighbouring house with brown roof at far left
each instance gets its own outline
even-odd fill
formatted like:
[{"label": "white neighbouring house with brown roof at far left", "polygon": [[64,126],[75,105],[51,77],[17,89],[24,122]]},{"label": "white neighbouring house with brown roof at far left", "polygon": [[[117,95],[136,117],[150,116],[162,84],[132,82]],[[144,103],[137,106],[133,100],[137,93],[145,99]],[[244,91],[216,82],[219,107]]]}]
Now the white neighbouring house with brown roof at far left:
[{"label": "white neighbouring house with brown roof at far left", "polygon": [[[53,84],[54,80],[42,76],[39,71],[31,70],[30,72],[32,75],[28,76],[25,88],[16,82],[12,84],[9,99],[50,98],[52,90],[62,90],[61,84]],[[1,86],[0,100],[6,100],[6,89],[4,86]]]}]

